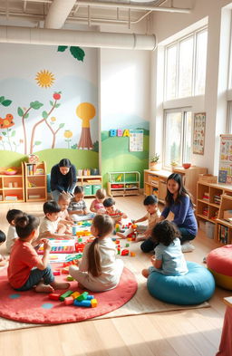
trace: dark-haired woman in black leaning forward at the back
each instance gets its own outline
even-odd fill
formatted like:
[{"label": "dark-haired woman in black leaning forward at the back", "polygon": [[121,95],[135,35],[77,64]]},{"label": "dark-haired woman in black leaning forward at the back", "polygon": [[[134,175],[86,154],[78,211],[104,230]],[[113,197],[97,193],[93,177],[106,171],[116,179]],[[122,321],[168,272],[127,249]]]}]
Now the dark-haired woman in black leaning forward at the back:
[{"label": "dark-haired woman in black leaning forward at the back", "polygon": [[58,202],[61,193],[73,196],[76,185],[76,168],[69,159],[62,159],[51,170],[53,200]]}]

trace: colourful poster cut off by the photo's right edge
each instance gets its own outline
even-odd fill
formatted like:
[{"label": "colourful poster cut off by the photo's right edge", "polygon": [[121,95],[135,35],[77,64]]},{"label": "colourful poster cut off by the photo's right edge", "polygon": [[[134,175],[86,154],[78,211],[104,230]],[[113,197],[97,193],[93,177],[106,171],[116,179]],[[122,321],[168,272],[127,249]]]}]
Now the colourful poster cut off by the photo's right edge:
[{"label": "colourful poster cut off by the photo's right edge", "polygon": [[232,184],[232,135],[220,135],[218,183]]}]

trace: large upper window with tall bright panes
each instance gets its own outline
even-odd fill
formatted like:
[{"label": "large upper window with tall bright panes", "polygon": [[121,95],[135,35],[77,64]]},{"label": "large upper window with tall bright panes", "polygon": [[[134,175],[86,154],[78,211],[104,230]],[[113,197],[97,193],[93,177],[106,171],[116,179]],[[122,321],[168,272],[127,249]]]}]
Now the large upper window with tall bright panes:
[{"label": "large upper window with tall bright panes", "polygon": [[204,28],[166,47],[166,101],[205,93],[207,41]]}]

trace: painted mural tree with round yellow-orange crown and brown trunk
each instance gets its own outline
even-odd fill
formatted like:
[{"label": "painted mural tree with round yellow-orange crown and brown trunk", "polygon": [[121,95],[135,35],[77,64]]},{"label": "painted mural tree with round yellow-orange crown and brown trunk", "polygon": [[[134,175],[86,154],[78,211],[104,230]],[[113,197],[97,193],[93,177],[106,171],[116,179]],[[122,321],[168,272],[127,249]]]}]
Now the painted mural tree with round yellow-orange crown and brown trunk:
[{"label": "painted mural tree with round yellow-orange crown and brown trunk", "polygon": [[82,102],[76,108],[76,114],[82,120],[82,133],[78,143],[78,149],[92,149],[90,120],[96,115],[96,110],[90,102]]}]

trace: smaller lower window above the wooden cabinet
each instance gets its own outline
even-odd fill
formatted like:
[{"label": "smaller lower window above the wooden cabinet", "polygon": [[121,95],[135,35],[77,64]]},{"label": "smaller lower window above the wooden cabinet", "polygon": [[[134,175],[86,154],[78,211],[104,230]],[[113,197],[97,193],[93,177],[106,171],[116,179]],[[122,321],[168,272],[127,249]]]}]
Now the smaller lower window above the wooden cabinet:
[{"label": "smaller lower window above the wooden cabinet", "polygon": [[191,161],[192,113],[185,109],[165,111],[164,166]]}]

